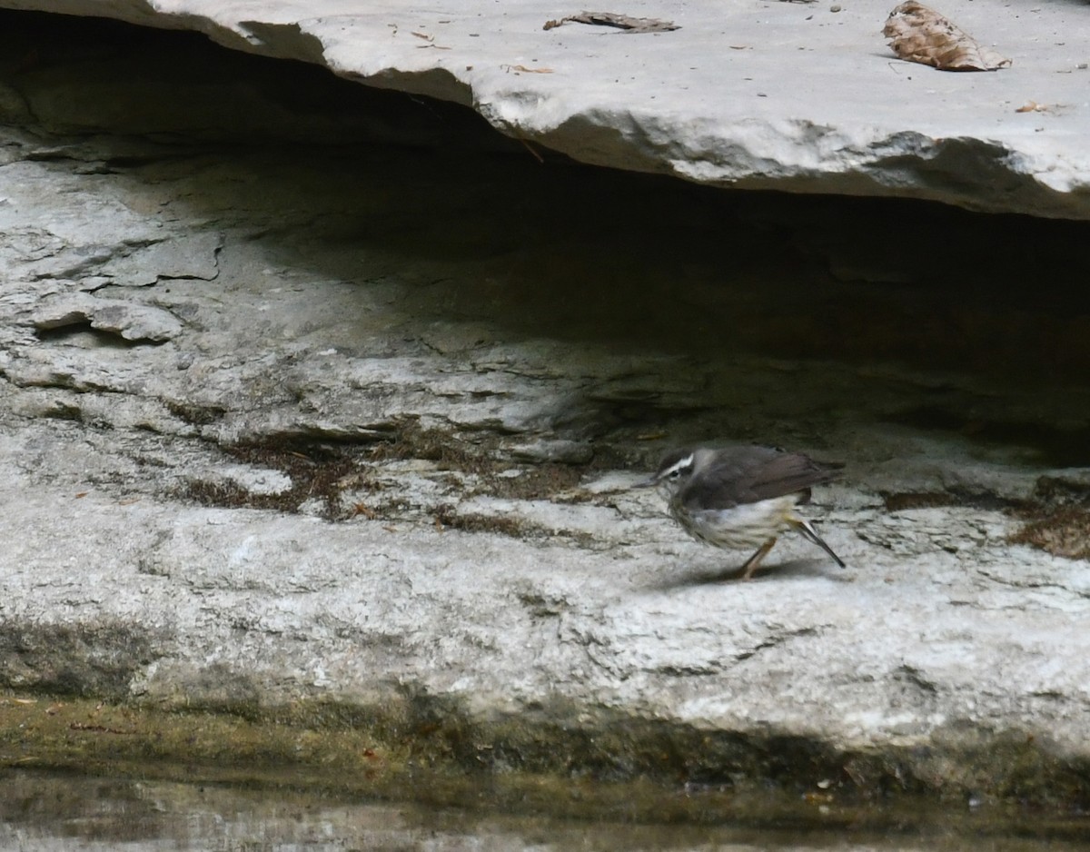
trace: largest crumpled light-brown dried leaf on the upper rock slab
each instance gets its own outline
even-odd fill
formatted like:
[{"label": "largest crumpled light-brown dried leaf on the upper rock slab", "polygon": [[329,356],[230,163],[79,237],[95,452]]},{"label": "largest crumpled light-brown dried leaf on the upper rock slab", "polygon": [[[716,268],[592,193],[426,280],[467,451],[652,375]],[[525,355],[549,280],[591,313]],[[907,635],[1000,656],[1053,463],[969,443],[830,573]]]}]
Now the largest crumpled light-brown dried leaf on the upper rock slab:
[{"label": "largest crumpled light-brown dried leaf on the upper rock slab", "polygon": [[916,0],[894,9],[882,34],[891,39],[889,47],[901,59],[934,65],[940,71],[995,71],[1010,64],[1009,59],[977,44],[941,14]]}]

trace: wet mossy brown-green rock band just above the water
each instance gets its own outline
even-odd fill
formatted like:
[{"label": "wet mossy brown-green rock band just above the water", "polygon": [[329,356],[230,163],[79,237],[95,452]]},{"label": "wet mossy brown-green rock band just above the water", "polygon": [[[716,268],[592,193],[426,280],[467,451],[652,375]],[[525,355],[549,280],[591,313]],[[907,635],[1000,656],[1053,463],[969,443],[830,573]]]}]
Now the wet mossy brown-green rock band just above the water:
[{"label": "wet mossy brown-green rock band just above the water", "polygon": [[573,709],[482,721],[412,689],[370,707],[169,709],[5,692],[0,767],[577,818],[1090,835],[1090,762],[1038,737],[966,725],[927,745],[845,751]]}]

